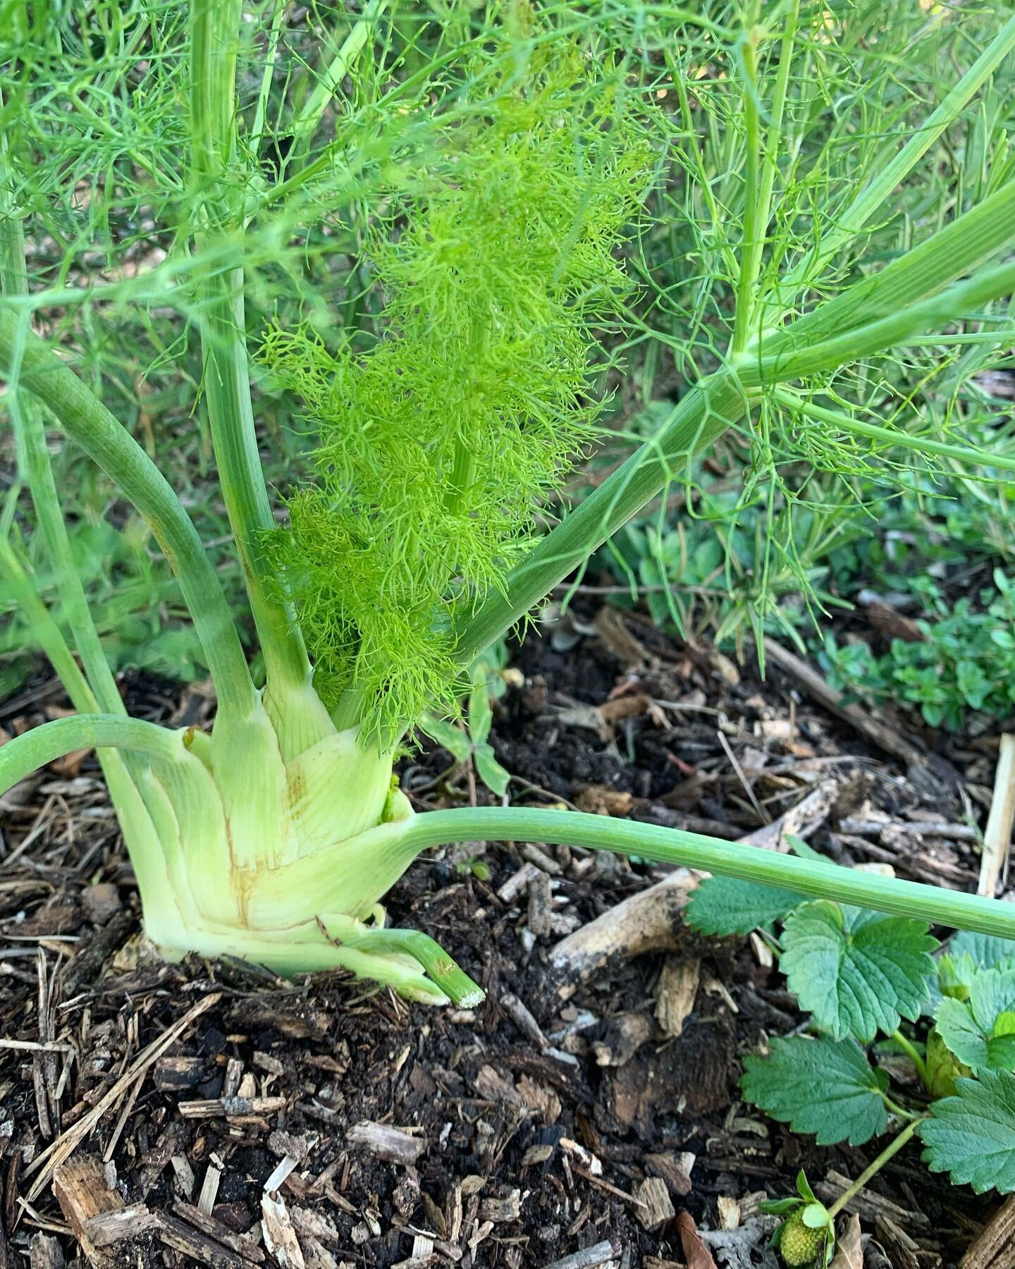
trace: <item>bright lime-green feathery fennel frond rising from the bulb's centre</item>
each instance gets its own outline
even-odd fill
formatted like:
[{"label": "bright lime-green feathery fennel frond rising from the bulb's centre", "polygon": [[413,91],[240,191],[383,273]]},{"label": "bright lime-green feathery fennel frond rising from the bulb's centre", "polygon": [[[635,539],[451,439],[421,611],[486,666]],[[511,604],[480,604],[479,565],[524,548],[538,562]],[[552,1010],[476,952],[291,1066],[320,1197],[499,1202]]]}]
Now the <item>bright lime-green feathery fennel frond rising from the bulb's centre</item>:
[{"label": "bright lime-green feathery fennel frond rising from the bulb's centre", "polygon": [[577,48],[496,88],[373,227],[381,338],[332,352],[275,326],[259,354],[320,431],[316,483],[269,539],[315,687],[388,736],[452,706],[453,612],[502,588],[594,435],[596,330],[629,289],[617,246],[653,159],[622,72]]}]

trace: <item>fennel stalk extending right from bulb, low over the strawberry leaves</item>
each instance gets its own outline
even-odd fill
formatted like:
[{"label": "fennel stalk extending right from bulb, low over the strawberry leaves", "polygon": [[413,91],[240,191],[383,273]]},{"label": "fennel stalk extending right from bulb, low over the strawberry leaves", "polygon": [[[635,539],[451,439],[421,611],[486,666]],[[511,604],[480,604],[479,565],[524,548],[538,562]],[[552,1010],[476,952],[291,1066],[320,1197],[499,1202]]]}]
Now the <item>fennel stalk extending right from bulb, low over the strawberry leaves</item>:
[{"label": "fennel stalk extending right from bulb, low over the strawberry leaves", "polygon": [[816,863],[633,820],[612,820],[580,811],[532,807],[464,807],[417,815],[406,845],[416,850],[458,841],[544,841],[617,854],[641,855],[658,863],[779,886],[812,898],[830,898],[955,929],[1015,938],[1015,907],[979,895],[964,895],[919,882]]}]

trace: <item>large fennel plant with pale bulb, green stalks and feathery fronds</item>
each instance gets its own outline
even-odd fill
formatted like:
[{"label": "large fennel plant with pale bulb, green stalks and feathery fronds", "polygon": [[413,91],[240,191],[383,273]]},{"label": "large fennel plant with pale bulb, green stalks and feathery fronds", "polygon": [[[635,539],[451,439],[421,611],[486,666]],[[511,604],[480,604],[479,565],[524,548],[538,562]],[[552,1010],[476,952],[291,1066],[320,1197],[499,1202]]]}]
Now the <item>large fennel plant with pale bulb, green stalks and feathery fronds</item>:
[{"label": "large fennel plant with pale bulb, green stalks and feathery fronds", "polygon": [[[422,850],[475,839],[628,851],[1015,937],[993,900],[577,812],[416,815],[392,778],[421,712],[453,709],[483,650],[731,428],[780,410],[808,435],[1015,470],[865,421],[841,397],[835,410],[815,400],[844,368],[982,321],[1015,288],[1015,179],[1001,160],[976,198],[919,223],[907,250],[864,259],[867,228],[1011,53],[1015,18],[784,260],[766,254],[780,162],[799,159],[780,148],[782,121],[835,36],[820,5],[774,6],[770,30],[757,4],[540,14],[516,0],[488,18],[463,5],[461,22],[428,19],[428,43],[417,6],[370,0],[330,24],[316,67],[293,52],[284,3],[4,14],[0,369],[58,609],[41,602],[18,541],[18,487],[0,569],[77,712],[5,745],[0,788],[98,749],[146,930],[166,956],[228,953],[285,975],[343,967],[416,999],[475,1003],[482,992],[450,957],[387,929],[382,907]],[[596,435],[598,335],[631,321],[619,261],[669,161],[643,62],[675,43],[702,62],[732,51],[740,67],[745,214],[740,241],[722,244],[732,338],[688,376],[655,435],[539,533]],[[94,160],[99,175],[82,180]],[[718,214],[714,190],[702,194]],[[41,240],[63,260],[34,277]],[[337,256],[353,261],[345,273]],[[346,322],[363,294],[382,307]],[[181,335],[174,317],[157,360],[199,335],[200,409],[263,687],[180,497],[105,404],[117,350],[67,321],[85,315],[94,335],[108,315],[141,313],[155,331],[166,306],[185,324]],[[316,437],[284,524],[255,426],[259,393],[280,391]],[[127,716],[74,569],[49,425],[108,475],[174,570],[216,688],[211,733]]]}]

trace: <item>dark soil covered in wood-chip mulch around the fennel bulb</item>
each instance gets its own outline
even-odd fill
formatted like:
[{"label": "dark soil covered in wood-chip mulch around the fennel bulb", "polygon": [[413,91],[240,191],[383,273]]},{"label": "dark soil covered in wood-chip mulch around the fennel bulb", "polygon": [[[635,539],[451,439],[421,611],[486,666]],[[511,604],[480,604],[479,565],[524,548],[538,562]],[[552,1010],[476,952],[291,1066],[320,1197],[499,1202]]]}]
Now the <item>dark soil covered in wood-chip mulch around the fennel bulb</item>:
[{"label": "dark soil covered in wood-chip mulch around the fennel bulb", "polygon": [[[822,853],[976,888],[974,843],[948,829],[983,822],[991,732],[939,736],[934,754],[911,718],[886,720],[926,750],[902,768],[779,670],[763,683],[617,609],[580,605],[511,667],[491,740],[516,803],[733,839],[821,789],[794,831]],[[212,716],[200,688],[126,690],[142,717]],[[38,683],[0,726],[62,704]],[[402,787],[420,808],[492,801],[433,746],[405,760]],[[33,1265],[707,1265],[681,1212],[730,1231],[713,1253],[746,1269],[774,1264],[761,1199],[793,1193],[801,1167],[834,1194],[873,1157],[816,1148],[738,1100],[742,1055],[802,1023],[759,940],[698,939],[676,917],[657,950],[585,976],[554,963],[568,933],[666,869],[524,843],[417,863],[391,895],[392,924],[430,933],[487,992],[476,1010],[440,1010],[340,975],[155,961],[94,755],[0,810],[0,1269],[29,1253]],[[690,982],[683,1027],[664,1008],[674,982],[685,996]],[[908,1147],[853,1209],[868,1264],[914,1269],[957,1261],[995,1207]]]}]

